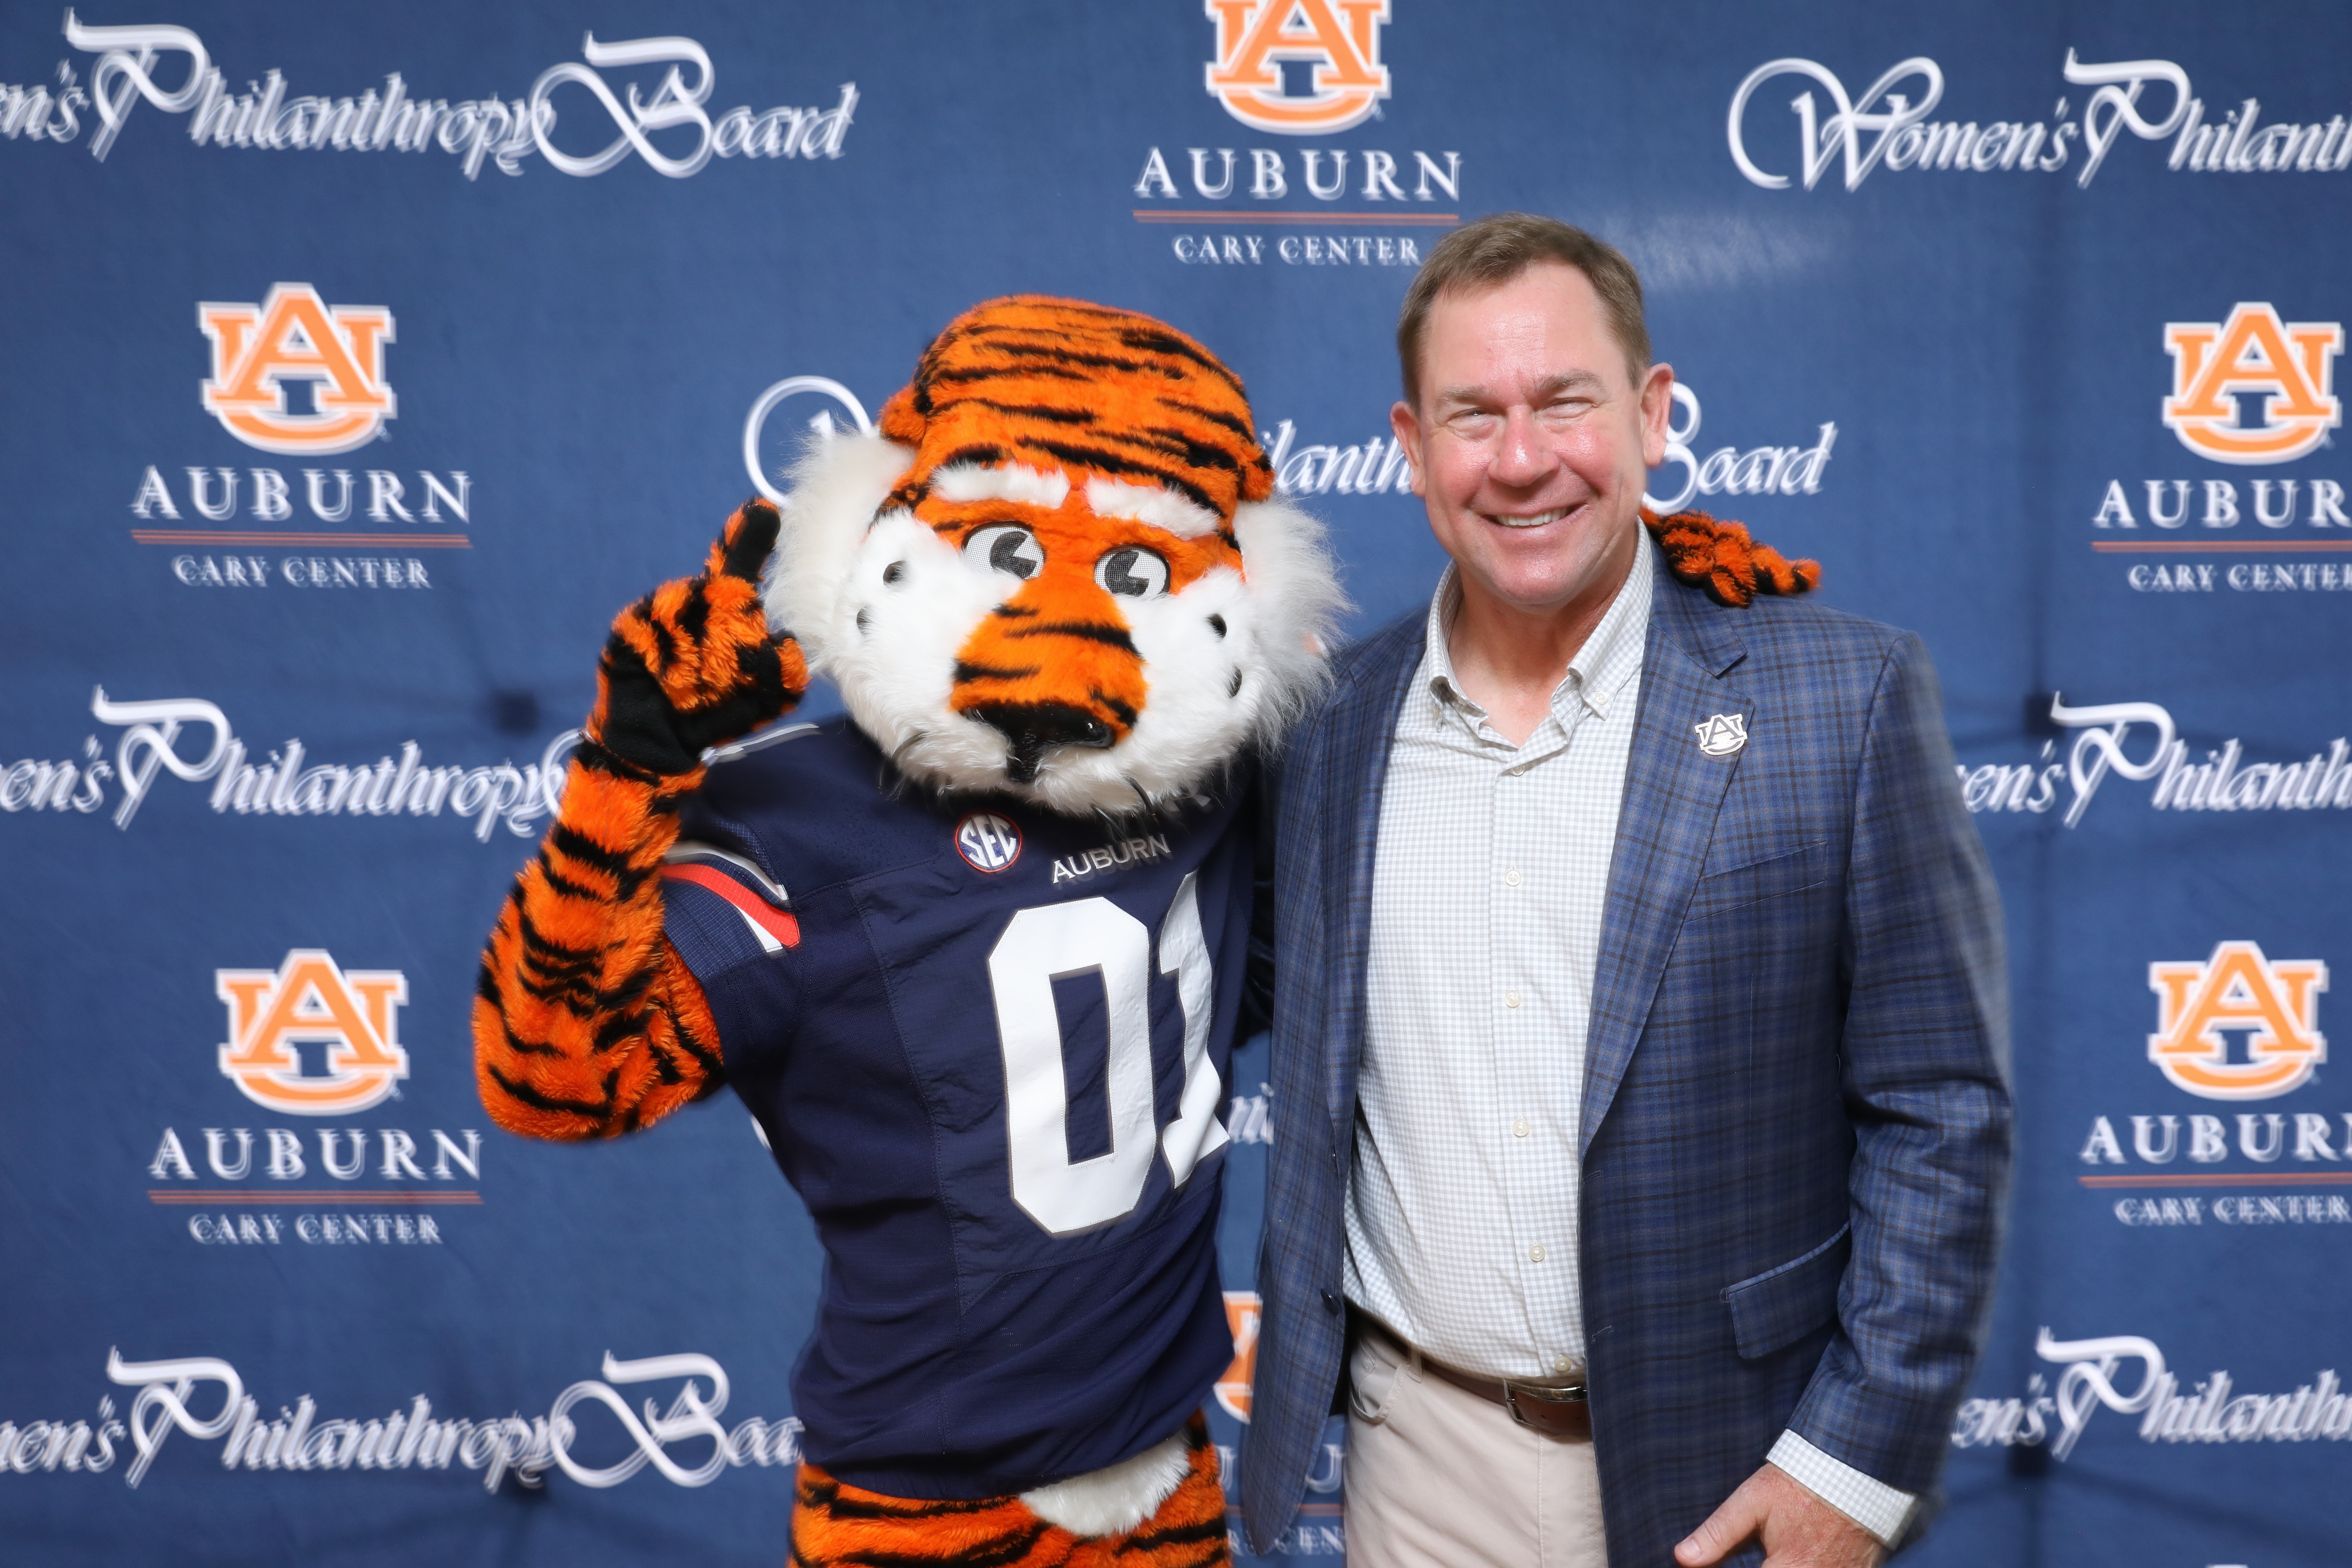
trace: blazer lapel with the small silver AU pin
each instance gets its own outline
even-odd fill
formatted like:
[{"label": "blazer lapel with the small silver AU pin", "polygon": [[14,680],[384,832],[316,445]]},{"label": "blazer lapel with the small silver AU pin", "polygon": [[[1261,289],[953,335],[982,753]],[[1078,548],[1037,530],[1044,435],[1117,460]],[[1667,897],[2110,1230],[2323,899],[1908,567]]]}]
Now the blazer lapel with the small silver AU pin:
[{"label": "blazer lapel with the small silver AU pin", "polygon": [[1592,1133],[1625,1079],[1705,865],[1715,813],[1740,764],[1740,752],[1700,750],[1700,729],[1724,715],[1736,715],[1743,729],[1755,726],[1755,701],[1724,679],[1745,658],[1729,625],[1733,614],[1658,569],[1592,973],[1578,1154],[1592,1147]]}]

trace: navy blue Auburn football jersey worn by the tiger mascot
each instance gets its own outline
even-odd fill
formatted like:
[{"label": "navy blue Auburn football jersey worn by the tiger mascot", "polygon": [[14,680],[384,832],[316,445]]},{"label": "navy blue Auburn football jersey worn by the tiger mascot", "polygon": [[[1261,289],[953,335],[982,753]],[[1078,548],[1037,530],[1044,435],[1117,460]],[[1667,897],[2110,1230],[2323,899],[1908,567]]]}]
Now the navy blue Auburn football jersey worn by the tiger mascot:
[{"label": "navy blue Auburn football jersey worn by the tiger mascot", "polygon": [[826,1246],[807,1455],[985,1497],[1176,1432],[1216,1274],[1256,788],[1108,823],[906,785],[849,722],[715,762],[666,929]]}]

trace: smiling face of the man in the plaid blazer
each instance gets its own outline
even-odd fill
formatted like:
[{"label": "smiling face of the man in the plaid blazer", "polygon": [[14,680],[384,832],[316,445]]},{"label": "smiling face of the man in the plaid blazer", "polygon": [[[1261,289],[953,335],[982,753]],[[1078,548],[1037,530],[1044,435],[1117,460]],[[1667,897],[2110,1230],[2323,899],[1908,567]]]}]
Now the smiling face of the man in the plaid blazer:
[{"label": "smiling face of the man in the plaid blazer", "polygon": [[1675,374],[1639,381],[1592,284],[1543,261],[1449,292],[1421,341],[1421,407],[1390,421],[1465,590],[1550,611],[1623,581]]}]

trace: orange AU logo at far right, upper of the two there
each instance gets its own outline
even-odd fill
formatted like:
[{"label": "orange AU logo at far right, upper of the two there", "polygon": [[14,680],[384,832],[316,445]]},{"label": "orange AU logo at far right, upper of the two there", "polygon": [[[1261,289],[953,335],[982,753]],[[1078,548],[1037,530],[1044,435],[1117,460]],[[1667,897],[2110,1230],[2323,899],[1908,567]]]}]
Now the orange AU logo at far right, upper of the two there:
[{"label": "orange AU logo at far right, upper of the two there", "polygon": [[[2241,303],[2227,322],[2166,322],[2173,395],[2164,428],[2216,463],[2286,463],[2314,451],[2343,423],[2336,355],[2343,322],[2281,322],[2270,306]],[[2239,393],[2260,395],[2241,423]]]}]

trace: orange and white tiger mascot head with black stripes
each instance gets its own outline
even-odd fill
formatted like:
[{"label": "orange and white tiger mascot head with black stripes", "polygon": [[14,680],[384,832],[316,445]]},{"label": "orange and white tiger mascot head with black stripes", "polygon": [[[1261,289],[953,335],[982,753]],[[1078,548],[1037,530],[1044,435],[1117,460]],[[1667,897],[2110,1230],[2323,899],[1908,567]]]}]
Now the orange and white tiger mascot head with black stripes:
[{"label": "orange and white tiger mascot head with black stripes", "polygon": [[1129,310],[988,301],[816,442],[767,585],[901,773],[1127,813],[1270,743],[1341,607],[1242,381]]}]

